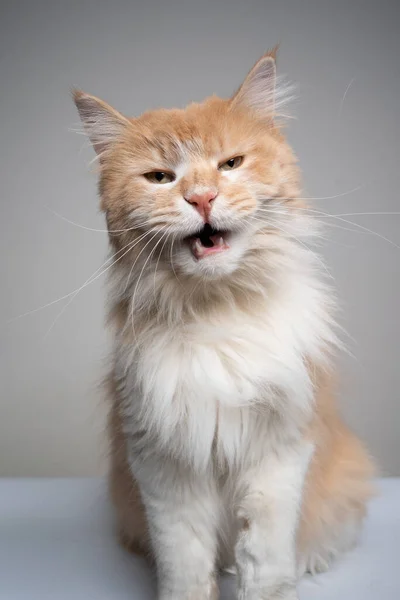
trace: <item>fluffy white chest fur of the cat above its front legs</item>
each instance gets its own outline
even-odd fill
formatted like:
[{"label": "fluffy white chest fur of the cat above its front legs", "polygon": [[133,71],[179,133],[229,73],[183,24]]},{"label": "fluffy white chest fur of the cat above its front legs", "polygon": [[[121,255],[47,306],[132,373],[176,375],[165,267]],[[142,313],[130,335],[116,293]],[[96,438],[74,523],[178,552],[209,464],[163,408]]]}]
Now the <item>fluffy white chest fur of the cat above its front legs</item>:
[{"label": "fluffy white chest fur of the cat above its front legs", "polygon": [[309,414],[305,359],[330,335],[321,300],[298,281],[261,311],[154,323],[139,351],[117,349],[129,427],[196,469],[212,456],[229,465],[256,459],[278,437],[274,427],[293,430]]}]

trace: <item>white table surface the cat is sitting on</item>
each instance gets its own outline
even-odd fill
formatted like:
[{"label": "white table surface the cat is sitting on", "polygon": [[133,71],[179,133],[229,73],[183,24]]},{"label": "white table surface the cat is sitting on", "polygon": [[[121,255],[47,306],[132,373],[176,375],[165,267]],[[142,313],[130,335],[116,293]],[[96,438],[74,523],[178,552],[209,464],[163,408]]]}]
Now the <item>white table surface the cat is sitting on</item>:
[{"label": "white table surface the cat is sitting on", "polygon": [[[400,600],[400,479],[379,482],[361,545],[300,600]],[[221,580],[233,600],[234,578]],[[116,543],[102,479],[0,479],[0,600],[155,600],[154,576]]]}]

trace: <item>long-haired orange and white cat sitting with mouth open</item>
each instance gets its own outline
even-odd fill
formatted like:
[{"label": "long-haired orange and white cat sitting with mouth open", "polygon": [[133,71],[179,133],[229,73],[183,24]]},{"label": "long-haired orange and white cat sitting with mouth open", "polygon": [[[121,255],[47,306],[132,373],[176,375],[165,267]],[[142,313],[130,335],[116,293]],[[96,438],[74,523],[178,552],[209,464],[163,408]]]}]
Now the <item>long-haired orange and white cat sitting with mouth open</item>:
[{"label": "long-haired orange and white cat sitting with mouth open", "polygon": [[[284,94],[283,94],[284,95]],[[110,493],[159,600],[294,600],[357,541],[373,463],[335,400],[335,300],[276,53],[230,99],[127,118],[76,90],[109,265]]]}]

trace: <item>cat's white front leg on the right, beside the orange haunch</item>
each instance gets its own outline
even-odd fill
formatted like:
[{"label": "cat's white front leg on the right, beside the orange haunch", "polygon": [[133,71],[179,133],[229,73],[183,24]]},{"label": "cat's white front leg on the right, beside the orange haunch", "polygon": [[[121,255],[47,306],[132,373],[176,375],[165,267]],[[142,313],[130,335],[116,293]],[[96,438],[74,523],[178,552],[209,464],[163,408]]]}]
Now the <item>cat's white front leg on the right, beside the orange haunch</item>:
[{"label": "cat's white front leg on the right, beside the orange haunch", "polygon": [[298,443],[245,475],[235,548],[239,600],[297,599],[295,537],[311,455],[311,444]]}]

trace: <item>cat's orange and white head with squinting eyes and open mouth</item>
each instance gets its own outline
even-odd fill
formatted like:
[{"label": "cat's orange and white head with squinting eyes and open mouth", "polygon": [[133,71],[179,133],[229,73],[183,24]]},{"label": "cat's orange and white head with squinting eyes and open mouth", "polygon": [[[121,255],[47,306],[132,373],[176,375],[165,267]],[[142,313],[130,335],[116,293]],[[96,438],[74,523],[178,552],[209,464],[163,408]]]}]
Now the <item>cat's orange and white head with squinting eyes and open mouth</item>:
[{"label": "cat's orange and white head with squinting eyes and open mouth", "polygon": [[283,214],[298,195],[295,158],[276,120],[273,52],[228,100],[127,118],[86,93],[74,98],[99,157],[102,209],[121,256],[135,244],[142,259],[184,276],[225,277],[274,229],[270,203]]}]

